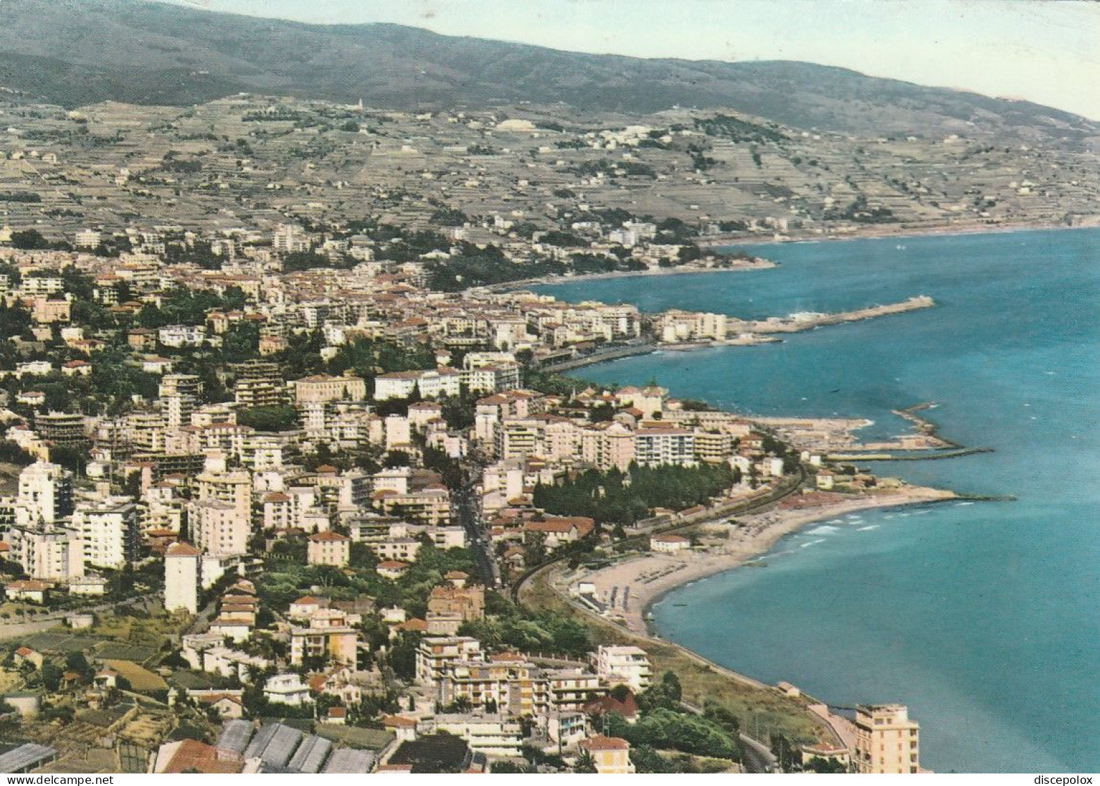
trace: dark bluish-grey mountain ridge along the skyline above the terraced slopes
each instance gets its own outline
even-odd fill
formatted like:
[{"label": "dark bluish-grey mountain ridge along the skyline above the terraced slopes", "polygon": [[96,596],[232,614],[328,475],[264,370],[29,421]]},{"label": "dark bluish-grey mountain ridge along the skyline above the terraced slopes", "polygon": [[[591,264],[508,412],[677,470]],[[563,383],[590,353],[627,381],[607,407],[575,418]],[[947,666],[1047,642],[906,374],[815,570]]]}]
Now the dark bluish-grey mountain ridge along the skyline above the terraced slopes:
[{"label": "dark bluish-grey mountain ridge along the skyline above the terraced slopes", "polygon": [[0,85],[67,107],[186,106],[240,91],[391,109],[553,103],[648,113],[727,107],[802,129],[1077,146],[1100,123],[1026,101],[796,62],[642,59],[311,25],[140,0],[6,0]]}]

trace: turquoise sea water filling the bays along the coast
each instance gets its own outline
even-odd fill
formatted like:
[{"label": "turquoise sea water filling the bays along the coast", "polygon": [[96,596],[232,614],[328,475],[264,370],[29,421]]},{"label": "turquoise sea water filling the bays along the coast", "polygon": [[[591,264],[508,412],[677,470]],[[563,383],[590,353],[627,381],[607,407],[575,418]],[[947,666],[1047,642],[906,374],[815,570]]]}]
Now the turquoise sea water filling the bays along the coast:
[{"label": "turquoise sea water filling the bays along the coast", "polygon": [[[903,248],[898,248],[899,245]],[[682,587],[661,634],[840,707],[901,701],[939,772],[1100,771],[1100,230],[767,245],[781,266],[575,282],[565,299],[741,317],[933,296],[937,306],[781,345],[583,369],[758,414],[870,417],[935,401],[942,433],[996,449],[881,474],[1015,502],[810,525],[767,568]],[[685,605],[681,605],[685,604]]]}]

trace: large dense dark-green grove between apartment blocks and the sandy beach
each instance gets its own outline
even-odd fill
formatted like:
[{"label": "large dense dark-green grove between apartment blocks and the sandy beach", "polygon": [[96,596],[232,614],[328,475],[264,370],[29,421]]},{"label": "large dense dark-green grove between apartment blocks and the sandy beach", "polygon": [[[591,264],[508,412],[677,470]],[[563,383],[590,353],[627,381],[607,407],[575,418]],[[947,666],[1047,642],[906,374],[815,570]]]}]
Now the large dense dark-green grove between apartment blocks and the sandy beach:
[{"label": "large dense dark-green grove between apartment blocks and the sandy beach", "polygon": [[706,503],[740,478],[728,465],[588,470],[560,485],[535,487],[535,505],[549,513],[591,516],[600,524],[634,524],[653,507],[675,511]]}]

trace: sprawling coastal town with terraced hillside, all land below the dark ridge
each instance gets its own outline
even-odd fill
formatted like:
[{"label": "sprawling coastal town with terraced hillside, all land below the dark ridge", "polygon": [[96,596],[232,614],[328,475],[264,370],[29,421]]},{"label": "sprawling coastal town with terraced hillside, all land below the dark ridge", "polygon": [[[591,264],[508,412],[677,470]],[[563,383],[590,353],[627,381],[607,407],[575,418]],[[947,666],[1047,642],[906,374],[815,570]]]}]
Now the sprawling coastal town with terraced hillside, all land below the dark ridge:
[{"label": "sprawling coastal town with terraced hillside, all land below the dark ridge", "polygon": [[[712,248],[732,237],[1072,223],[1077,153],[4,101],[0,771],[920,769],[904,707],[842,718],[653,638],[644,605],[768,516],[948,494],[837,460],[859,422],[561,372],[931,298],[748,320],[522,282],[767,269]],[[857,148],[858,177],[827,174]],[[936,199],[884,174],[902,149]]]}]

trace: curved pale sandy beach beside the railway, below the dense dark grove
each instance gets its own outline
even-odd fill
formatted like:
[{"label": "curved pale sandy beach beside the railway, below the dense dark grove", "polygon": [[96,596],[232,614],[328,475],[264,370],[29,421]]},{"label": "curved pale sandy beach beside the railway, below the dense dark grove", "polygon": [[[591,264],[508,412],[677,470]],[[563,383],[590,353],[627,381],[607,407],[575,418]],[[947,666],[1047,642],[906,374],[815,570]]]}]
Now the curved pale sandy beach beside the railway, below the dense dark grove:
[{"label": "curved pale sandy beach beside the railway, below the dense dark grove", "polygon": [[616,603],[616,614],[625,625],[641,635],[649,635],[645,614],[649,605],[661,596],[681,585],[705,576],[729,570],[759,557],[777,541],[813,522],[834,518],[872,507],[893,507],[957,499],[950,491],[908,487],[894,492],[869,494],[832,504],[795,510],[774,509],[765,513],[738,517],[738,526],[702,525],[728,530],[728,539],[722,545],[692,549],[680,554],[647,554],[627,559],[596,571],[569,571],[554,577],[556,587],[568,594],[569,586],[591,581],[596,597],[608,599],[617,588],[623,593],[629,588],[626,609]]}]

